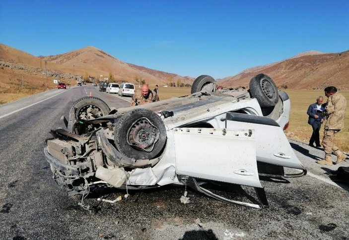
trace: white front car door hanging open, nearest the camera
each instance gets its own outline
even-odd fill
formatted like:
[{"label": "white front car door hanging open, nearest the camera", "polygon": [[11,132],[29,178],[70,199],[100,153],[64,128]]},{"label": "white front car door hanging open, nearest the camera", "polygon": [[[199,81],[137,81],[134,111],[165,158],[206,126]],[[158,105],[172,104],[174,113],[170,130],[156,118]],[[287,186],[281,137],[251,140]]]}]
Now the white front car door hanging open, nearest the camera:
[{"label": "white front car door hanging open, nearest the camera", "polygon": [[176,174],[261,188],[252,129],[175,128]]}]

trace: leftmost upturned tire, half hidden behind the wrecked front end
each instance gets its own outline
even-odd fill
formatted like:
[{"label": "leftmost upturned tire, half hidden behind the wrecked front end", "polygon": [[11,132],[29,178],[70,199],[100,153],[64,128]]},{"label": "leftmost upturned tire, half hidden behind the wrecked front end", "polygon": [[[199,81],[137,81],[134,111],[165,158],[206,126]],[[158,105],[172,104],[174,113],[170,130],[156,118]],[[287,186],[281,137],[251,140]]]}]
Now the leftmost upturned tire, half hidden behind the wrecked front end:
[{"label": "leftmost upturned tire, half hidden behind the wrecked front end", "polygon": [[[96,109],[91,116],[94,118],[105,116],[110,112],[108,104],[102,99],[95,96],[84,96],[77,99],[71,106],[69,119],[81,119],[81,114],[86,113],[88,107]],[[88,119],[89,120],[89,119]]]}]

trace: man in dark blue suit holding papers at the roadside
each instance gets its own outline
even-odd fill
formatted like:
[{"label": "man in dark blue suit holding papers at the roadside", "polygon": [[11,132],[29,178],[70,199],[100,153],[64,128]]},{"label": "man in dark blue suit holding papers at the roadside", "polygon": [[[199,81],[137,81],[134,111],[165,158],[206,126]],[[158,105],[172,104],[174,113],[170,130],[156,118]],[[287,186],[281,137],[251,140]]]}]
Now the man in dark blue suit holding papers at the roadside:
[{"label": "man in dark blue suit holding papers at the roadside", "polygon": [[309,115],[308,118],[308,124],[311,125],[313,128],[313,133],[311,135],[309,145],[312,147],[314,146],[314,142],[316,144],[316,147],[320,147],[320,128],[321,124],[324,122],[324,117],[320,115],[320,113],[325,110],[322,107],[322,101],[324,97],[318,96],[316,98],[316,102],[313,104],[310,104],[307,110],[307,114]]}]

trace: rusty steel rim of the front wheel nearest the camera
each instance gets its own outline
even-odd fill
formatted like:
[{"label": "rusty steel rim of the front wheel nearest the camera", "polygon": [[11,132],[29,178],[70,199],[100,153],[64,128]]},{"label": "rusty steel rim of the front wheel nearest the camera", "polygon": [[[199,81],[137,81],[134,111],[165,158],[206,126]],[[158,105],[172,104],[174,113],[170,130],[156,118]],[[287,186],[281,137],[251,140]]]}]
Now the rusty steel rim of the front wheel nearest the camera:
[{"label": "rusty steel rim of the front wheel nearest the camera", "polygon": [[160,131],[147,118],[136,120],[127,133],[127,143],[144,151],[151,151]]}]

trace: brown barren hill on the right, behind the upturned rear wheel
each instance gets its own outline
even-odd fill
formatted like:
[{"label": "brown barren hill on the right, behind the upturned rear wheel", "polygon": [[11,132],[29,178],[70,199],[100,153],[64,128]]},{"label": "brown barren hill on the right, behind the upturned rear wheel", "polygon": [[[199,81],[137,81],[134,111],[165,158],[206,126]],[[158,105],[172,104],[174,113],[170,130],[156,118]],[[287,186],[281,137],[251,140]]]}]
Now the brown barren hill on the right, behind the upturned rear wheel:
[{"label": "brown barren hill on the right, behind the upturned rear wheel", "polygon": [[225,87],[247,87],[250,79],[265,73],[273,78],[277,86],[292,89],[323,89],[333,85],[349,89],[349,51],[300,53],[283,61],[249,68],[231,77],[219,80]]}]

